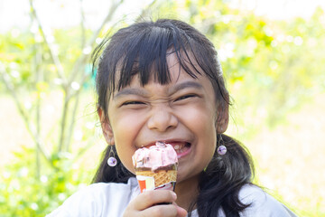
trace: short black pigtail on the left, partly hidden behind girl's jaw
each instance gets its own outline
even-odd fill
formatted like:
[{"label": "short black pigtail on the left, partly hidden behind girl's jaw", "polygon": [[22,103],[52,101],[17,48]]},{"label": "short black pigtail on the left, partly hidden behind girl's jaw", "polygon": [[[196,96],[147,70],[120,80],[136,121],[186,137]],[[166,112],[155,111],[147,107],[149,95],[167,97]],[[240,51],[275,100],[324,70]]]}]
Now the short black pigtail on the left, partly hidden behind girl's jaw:
[{"label": "short black pigtail on the left, partly hidden behind girl's jaw", "polygon": [[127,183],[127,180],[130,177],[135,176],[125,168],[117,155],[115,156],[117,165],[114,167],[107,165],[107,159],[109,157],[111,148],[113,148],[114,153],[116,153],[115,146],[107,146],[92,183]]}]

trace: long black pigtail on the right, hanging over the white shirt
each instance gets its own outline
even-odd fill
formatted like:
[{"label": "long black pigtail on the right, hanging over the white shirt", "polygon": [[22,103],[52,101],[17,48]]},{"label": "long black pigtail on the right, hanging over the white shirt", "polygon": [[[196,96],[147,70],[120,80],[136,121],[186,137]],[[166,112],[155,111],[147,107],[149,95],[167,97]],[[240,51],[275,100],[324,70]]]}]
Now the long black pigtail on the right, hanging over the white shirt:
[{"label": "long black pigtail on the right, hanging over the white shirt", "polygon": [[227,146],[227,154],[218,156],[216,149],[208,167],[200,175],[200,194],[195,203],[199,216],[216,216],[222,208],[227,217],[235,217],[250,205],[241,203],[238,193],[244,184],[251,183],[254,167],[244,146],[232,137],[218,137],[222,137]]}]

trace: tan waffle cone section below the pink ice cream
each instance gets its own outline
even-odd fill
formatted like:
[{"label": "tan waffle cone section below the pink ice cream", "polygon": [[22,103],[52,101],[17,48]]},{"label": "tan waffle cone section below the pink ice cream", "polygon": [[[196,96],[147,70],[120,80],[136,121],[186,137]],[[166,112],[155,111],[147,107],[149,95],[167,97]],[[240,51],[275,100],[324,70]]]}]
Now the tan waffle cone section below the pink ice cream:
[{"label": "tan waffle cone section below the pink ice cream", "polygon": [[177,170],[137,171],[135,174],[153,177],[154,187],[158,187],[163,184],[176,182]]}]

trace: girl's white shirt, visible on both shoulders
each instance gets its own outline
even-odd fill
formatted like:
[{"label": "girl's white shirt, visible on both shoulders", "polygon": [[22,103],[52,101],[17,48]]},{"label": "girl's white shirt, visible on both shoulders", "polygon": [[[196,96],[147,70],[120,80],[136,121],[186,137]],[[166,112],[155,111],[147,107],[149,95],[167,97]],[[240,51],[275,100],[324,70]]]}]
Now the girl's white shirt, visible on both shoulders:
[{"label": "girl's white shirt, visible on both shoulders", "polygon": [[[58,209],[46,217],[119,217],[123,215],[127,204],[139,193],[140,189],[135,177],[130,178],[127,184],[90,184],[72,194]],[[255,185],[243,186],[239,191],[239,199],[242,203],[252,203],[240,213],[241,217],[296,216],[282,203]],[[199,217],[196,210],[191,216]],[[225,217],[225,214],[220,209],[217,216]]]}]

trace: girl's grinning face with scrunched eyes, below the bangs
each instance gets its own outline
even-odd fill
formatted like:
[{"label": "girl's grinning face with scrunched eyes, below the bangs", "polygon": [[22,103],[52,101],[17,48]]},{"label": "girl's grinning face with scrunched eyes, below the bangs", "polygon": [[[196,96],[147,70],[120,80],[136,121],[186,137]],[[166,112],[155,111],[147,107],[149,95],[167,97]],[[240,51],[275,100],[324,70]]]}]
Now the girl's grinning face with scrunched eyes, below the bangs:
[{"label": "girl's grinning face with scrunched eyes, below the bangs", "polygon": [[[218,108],[209,79],[193,79],[181,69],[174,54],[167,57],[172,81],[161,85],[150,80],[141,86],[135,76],[108,102],[107,139],[113,137],[123,165],[135,173],[132,156],[137,148],[156,141],[171,144],[179,158],[177,182],[199,175],[209,164],[217,144]],[[218,123],[226,130],[228,117]],[[222,132],[223,132],[222,131]],[[218,133],[222,133],[221,131]]]}]

